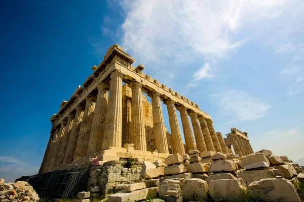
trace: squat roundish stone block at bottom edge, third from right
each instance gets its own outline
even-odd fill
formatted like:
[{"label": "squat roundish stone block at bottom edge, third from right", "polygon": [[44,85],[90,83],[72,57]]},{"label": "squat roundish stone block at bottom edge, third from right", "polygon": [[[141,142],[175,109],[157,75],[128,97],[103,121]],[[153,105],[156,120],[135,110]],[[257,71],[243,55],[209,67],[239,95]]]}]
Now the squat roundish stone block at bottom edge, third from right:
[{"label": "squat roundish stone block at bottom edge, third from right", "polygon": [[186,179],[180,195],[185,201],[196,201],[197,198],[207,198],[208,184],[205,180],[198,178]]}]

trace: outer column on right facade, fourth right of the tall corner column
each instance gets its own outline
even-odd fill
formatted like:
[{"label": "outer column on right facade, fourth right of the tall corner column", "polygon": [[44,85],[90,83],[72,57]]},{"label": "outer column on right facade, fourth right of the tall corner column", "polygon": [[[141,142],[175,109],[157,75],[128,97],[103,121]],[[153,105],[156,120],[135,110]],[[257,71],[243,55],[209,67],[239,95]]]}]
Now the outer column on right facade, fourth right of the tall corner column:
[{"label": "outer column on right facade, fourth right of the tall corner column", "polygon": [[182,130],[185,137],[186,142],[186,153],[188,153],[189,150],[197,150],[197,146],[194,141],[193,132],[191,130],[191,125],[187,113],[187,108],[184,106],[180,106],[177,108],[177,110],[180,113],[180,119],[182,124]]}]

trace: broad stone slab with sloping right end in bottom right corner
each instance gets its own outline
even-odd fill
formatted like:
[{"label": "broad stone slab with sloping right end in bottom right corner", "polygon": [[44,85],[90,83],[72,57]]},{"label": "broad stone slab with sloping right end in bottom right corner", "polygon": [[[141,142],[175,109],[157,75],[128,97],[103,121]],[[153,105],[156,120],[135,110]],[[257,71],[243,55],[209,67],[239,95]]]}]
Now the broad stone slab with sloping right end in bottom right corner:
[{"label": "broad stone slab with sloping right end in bottom right corner", "polygon": [[262,179],[248,186],[250,192],[262,193],[261,196],[271,201],[300,201],[295,188],[287,179]]}]

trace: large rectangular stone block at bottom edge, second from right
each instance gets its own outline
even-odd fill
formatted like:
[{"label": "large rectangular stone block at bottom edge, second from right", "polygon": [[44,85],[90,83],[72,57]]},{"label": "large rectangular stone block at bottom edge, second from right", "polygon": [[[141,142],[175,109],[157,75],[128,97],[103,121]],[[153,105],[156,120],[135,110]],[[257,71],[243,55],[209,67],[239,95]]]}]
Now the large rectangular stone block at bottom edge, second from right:
[{"label": "large rectangular stone block at bottom edge, second from right", "polygon": [[208,185],[210,196],[213,199],[241,201],[243,191],[247,190],[242,179],[211,180]]}]

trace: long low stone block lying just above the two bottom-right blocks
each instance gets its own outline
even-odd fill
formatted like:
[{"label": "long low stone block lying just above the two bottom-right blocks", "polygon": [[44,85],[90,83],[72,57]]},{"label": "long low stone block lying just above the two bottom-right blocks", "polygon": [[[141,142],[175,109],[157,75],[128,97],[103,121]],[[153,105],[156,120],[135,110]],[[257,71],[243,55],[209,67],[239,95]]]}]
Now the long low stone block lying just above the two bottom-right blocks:
[{"label": "long low stone block lying just above the two bottom-right blocks", "polygon": [[237,175],[239,178],[242,178],[244,183],[248,186],[254,181],[276,178],[276,176],[283,176],[283,173],[278,169],[238,170]]}]

